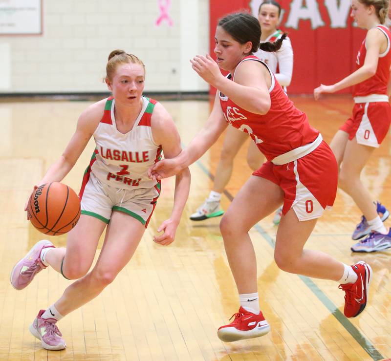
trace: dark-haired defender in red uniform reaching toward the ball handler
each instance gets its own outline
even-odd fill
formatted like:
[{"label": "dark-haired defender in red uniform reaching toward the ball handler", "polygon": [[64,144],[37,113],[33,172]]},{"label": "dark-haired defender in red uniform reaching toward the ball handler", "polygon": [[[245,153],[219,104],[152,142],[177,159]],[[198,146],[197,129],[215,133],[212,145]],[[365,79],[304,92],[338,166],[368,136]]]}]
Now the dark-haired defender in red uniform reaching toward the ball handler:
[{"label": "dark-haired defender in red uniform reaching toward the ball handler", "polygon": [[[260,36],[259,22],[249,14],[231,14],[219,21],[217,62],[209,55],[191,60],[197,74],[218,89],[212,113],[186,149],[149,170],[152,179],[180,172],[200,158],[228,125],[249,133],[267,159],[220,222],[240,300],[234,321],[217,331],[224,341],[259,337],[270,330],[260,311],[257,261],[248,230],[282,204],[275,246],[275,260],[282,270],[341,283],[347,317],[364,309],[371,277],[365,262],[348,266],[322,252],[303,249],[317,218],[334,202],[337,163],[319,131],[310,127],[267,65],[252,55],[259,48],[278,50],[284,36],[261,44]],[[227,77],[219,67],[229,71]]]}]

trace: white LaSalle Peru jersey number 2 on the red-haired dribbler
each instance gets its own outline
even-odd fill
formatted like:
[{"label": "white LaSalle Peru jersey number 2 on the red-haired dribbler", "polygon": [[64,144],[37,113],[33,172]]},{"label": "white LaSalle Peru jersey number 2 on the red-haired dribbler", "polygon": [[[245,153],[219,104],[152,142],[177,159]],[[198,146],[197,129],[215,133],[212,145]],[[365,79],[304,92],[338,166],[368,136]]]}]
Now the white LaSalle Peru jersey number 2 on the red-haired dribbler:
[{"label": "white LaSalle Peru jersey number 2 on the red-haired dribbler", "polygon": [[114,117],[115,101],[109,97],[102,120],[93,136],[96,149],[85,172],[83,184],[89,172],[114,188],[152,188],[157,182],[148,178],[147,170],[161,159],[162,147],[152,137],[151,116],[157,103],[142,97],[143,106],[132,129],[123,134],[118,131]]}]

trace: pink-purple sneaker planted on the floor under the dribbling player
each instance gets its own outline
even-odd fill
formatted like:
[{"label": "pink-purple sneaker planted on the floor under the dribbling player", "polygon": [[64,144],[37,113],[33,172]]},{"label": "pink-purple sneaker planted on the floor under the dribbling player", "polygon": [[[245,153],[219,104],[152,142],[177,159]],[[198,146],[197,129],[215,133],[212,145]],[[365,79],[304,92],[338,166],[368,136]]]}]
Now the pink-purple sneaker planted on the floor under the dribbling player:
[{"label": "pink-purple sneaker planted on the floor under the dribbling player", "polygon": [[42,347],[46,350],[64,350],[66,343],[56,326],[57,319],[42,319],[41,316],[44,312],[45,310],[41,310],[38,313],[28,329],[33,336],[41,340]]}]

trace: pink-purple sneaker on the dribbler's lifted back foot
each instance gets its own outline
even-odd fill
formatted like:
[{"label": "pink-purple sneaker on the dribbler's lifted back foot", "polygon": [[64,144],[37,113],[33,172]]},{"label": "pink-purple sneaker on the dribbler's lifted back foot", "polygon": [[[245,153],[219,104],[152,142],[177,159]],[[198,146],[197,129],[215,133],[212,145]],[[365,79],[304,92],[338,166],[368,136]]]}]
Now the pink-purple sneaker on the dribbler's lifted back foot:
[{"label": "pink-purple sneaker on the dribbler's lifted back foot", "polygon": [[43,239],[35,244],[30,252],[25,255],[11,271],[11,284],[16,290],[22,290],[42,271],[45,266],[41,261],[41,251],[44,248],[53,247],[52,242]]}]

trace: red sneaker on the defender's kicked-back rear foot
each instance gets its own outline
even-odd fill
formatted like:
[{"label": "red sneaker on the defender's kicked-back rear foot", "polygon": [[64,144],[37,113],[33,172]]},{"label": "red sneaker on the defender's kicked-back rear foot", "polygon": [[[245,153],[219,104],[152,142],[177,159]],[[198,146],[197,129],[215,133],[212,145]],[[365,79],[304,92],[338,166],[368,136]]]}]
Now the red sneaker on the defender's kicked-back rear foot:
[{"label": "red sneaker on the defender's kicked-back rear foot", "polygon": [[369,264],[359,261],[351,266],[357,274],[357,281],[339,285],[341,290],[345,291],[346,317],[356,317],[363,312],[368,299],[369,283],[372,278],[372,269]]}]

